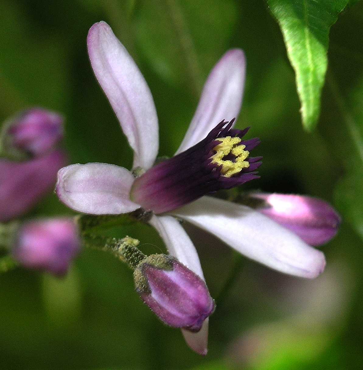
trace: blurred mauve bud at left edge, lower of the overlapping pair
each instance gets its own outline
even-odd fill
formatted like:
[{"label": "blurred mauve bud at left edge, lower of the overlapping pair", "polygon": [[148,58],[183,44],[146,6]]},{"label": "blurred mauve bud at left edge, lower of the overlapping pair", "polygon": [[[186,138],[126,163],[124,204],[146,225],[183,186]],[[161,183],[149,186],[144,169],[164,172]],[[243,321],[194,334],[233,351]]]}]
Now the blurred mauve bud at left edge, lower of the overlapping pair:
[{"label": "blurred mauve bud at left edge, lower of the overlapping pair", "polygon": [[55,184],[66,156],[54,151],[25,162],[0,159],[0,222],[19,217]]}]

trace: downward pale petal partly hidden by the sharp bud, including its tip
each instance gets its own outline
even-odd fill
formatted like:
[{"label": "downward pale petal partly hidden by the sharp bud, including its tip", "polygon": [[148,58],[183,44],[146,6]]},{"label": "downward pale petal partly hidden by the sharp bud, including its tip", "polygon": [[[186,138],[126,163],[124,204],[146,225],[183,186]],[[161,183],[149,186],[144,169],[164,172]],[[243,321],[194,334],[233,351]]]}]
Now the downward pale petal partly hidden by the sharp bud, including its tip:
[{"label": "downward pale petal partly hidden by the sharp bud, including its tip", "polygon": [[[149,223],[154,226],[164,240],[169,253],[186,267],[204,279],[201,264],[195,247],[180,223],[171,216],[153,216]],[[181,329],[186,344],[196,353],[205,356],[208,351],[208,318],[198,333]]]}]

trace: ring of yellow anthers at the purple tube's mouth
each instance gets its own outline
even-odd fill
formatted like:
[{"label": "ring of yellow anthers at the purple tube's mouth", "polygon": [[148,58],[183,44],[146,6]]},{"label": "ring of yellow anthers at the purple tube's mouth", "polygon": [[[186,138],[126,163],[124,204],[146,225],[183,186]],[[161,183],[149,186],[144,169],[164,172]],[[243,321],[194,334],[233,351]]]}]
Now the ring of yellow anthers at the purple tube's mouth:
[{"label": "ring of yellow anthers at the purple tube's mouth", "polygon": [[249,151],[244,150],[246,145],[238,145],[241,138],[226,136],[216,140],[221,141],[221,143],[213,148],[216,153],[212,155],[211,163],[222,165],[222,176],[231,177],[238,174],[242,168],[249,167],[249,162],[245,161],[249,156]]}]

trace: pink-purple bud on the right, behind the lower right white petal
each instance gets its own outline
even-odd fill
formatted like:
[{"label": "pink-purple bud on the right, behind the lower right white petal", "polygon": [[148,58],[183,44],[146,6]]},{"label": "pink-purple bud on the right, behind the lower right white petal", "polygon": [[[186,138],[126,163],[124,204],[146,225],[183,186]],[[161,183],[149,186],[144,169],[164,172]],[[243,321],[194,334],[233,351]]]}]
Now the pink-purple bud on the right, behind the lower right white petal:
[{"label": "pink-purple bud on the right, behind the lower right white petal", "polygon": [[322,245],[332,239],[339,227],[340,216],[328,203],[310,196],[253,194],[265,206],[257,210],[293,231],[310,245]]}]

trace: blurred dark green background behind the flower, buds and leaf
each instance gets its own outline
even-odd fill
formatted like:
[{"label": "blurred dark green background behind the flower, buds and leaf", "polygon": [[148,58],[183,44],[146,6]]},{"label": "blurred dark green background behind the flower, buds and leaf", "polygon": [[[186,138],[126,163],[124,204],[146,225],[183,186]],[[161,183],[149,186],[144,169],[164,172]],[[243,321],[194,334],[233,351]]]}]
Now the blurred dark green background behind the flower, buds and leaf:
[{"label": "blurred dark green background behind the flower, buds and leaf", "polygon": [[[65,117],[70,163],[130,168],[132,156],[86,51],[90,26],[107,21],[135,58],[158,111],[159,155],[171,156],[188,128],[209,71],[233,47],[247,78],[237,127],[262,144],[261,179],[243,189],[319,196],[343,217],[323,247],[314,281],[279,273],[186,225],[217,309],[205,358],[186,347],[134,292],[130,270],[84,250],[64,279],[16,269],[0,275],[0,368],[362,369],[363,363],[363,4],[330,31],[329,68],[317,129],[301,124],[295,74],[265,1],[1,0],[0,118],[32,106]],[[70,214],[50,194],[34,216]],[[110,231],[165,250],[149,226]],[[220,295],[239,267],[233,284]],[[220,299],[218,300],[218,297]]]}]

